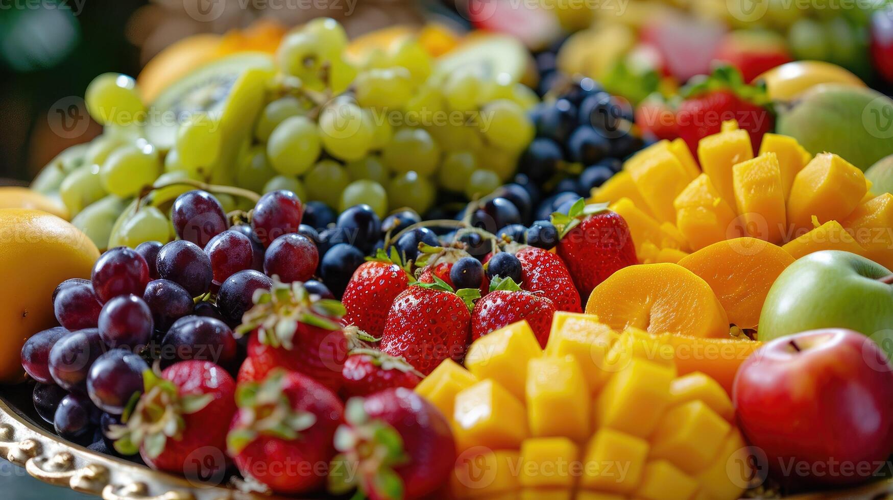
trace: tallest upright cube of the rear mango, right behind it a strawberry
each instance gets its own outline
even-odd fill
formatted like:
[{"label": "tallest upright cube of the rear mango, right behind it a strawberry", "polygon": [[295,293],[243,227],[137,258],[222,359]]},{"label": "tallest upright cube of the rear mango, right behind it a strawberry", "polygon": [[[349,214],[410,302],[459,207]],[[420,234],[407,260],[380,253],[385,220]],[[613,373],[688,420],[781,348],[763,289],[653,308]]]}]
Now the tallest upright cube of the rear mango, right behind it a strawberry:
[{"label": "tallest upright cube of the rear mango, right behind it a strawberry", "polygon": [[704,137],[697,144],[697,159],[701,170],[710,177],[722,199],[730,204],[735,199],[732,166],[754,157],[747,130],[726,129]]}]

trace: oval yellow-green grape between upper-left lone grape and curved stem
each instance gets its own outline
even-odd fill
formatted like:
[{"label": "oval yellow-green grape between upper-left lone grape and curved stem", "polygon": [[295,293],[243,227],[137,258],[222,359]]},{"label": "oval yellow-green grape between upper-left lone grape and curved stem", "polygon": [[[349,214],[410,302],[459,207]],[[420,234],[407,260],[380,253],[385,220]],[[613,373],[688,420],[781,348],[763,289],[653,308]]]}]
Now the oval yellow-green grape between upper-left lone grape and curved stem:
[{"label": "oval yellow-green grape between upper-left lone grape and curved stem", "polygon": [[115,149],[99,169],[104,189],[117,196],[136,196],[158,178],[161,162],[154,146],[140,142]]}]

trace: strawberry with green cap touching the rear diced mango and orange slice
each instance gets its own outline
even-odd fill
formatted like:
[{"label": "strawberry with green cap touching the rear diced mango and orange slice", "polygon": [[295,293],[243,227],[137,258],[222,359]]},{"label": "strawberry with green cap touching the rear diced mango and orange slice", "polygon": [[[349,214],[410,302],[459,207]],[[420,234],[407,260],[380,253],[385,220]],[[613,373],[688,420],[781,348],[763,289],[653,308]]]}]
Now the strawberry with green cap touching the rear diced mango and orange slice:
[{"label": "strawberry with green cap touching the rear diced mango and orange slice", "polygon": [[614,271],[638,263],[629,226],[620,214],[607,210],[607,204],[586,204],[580,198],[567,214],[553,213],[552,223],[561,237],[556,251],[580,299],[588,298]]}]

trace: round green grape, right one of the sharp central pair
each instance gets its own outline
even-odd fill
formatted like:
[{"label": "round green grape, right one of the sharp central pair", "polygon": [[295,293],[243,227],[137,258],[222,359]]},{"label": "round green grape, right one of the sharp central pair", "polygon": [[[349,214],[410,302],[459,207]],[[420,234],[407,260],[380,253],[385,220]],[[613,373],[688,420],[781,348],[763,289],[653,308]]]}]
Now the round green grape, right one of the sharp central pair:
[{"label": "round green grape, right one of the sharp central pair", "polygon": [[345,101],[323,108],[319,129],[326,151],[345,161],[363,158],[371,149],[375,136],[375,123],[371,117],[360,106]]}]

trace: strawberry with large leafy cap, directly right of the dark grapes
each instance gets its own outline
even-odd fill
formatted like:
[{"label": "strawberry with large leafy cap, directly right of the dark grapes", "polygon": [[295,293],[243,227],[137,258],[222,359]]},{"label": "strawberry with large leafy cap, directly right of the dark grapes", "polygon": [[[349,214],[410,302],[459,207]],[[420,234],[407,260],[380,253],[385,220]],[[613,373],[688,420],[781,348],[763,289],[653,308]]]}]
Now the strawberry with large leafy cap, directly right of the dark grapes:
[{"label": "strawberry with large leafy cap, directly right of the dark grapes", "polygon": [[348,350],[340,322],[344,312],[338,301],[311,295],[300,281],[274,280],[270,291],[255,296],[255,306],[237,329],[238,336],[250,334],[247,352],[254,379],[285,368],[337,391]]}]

